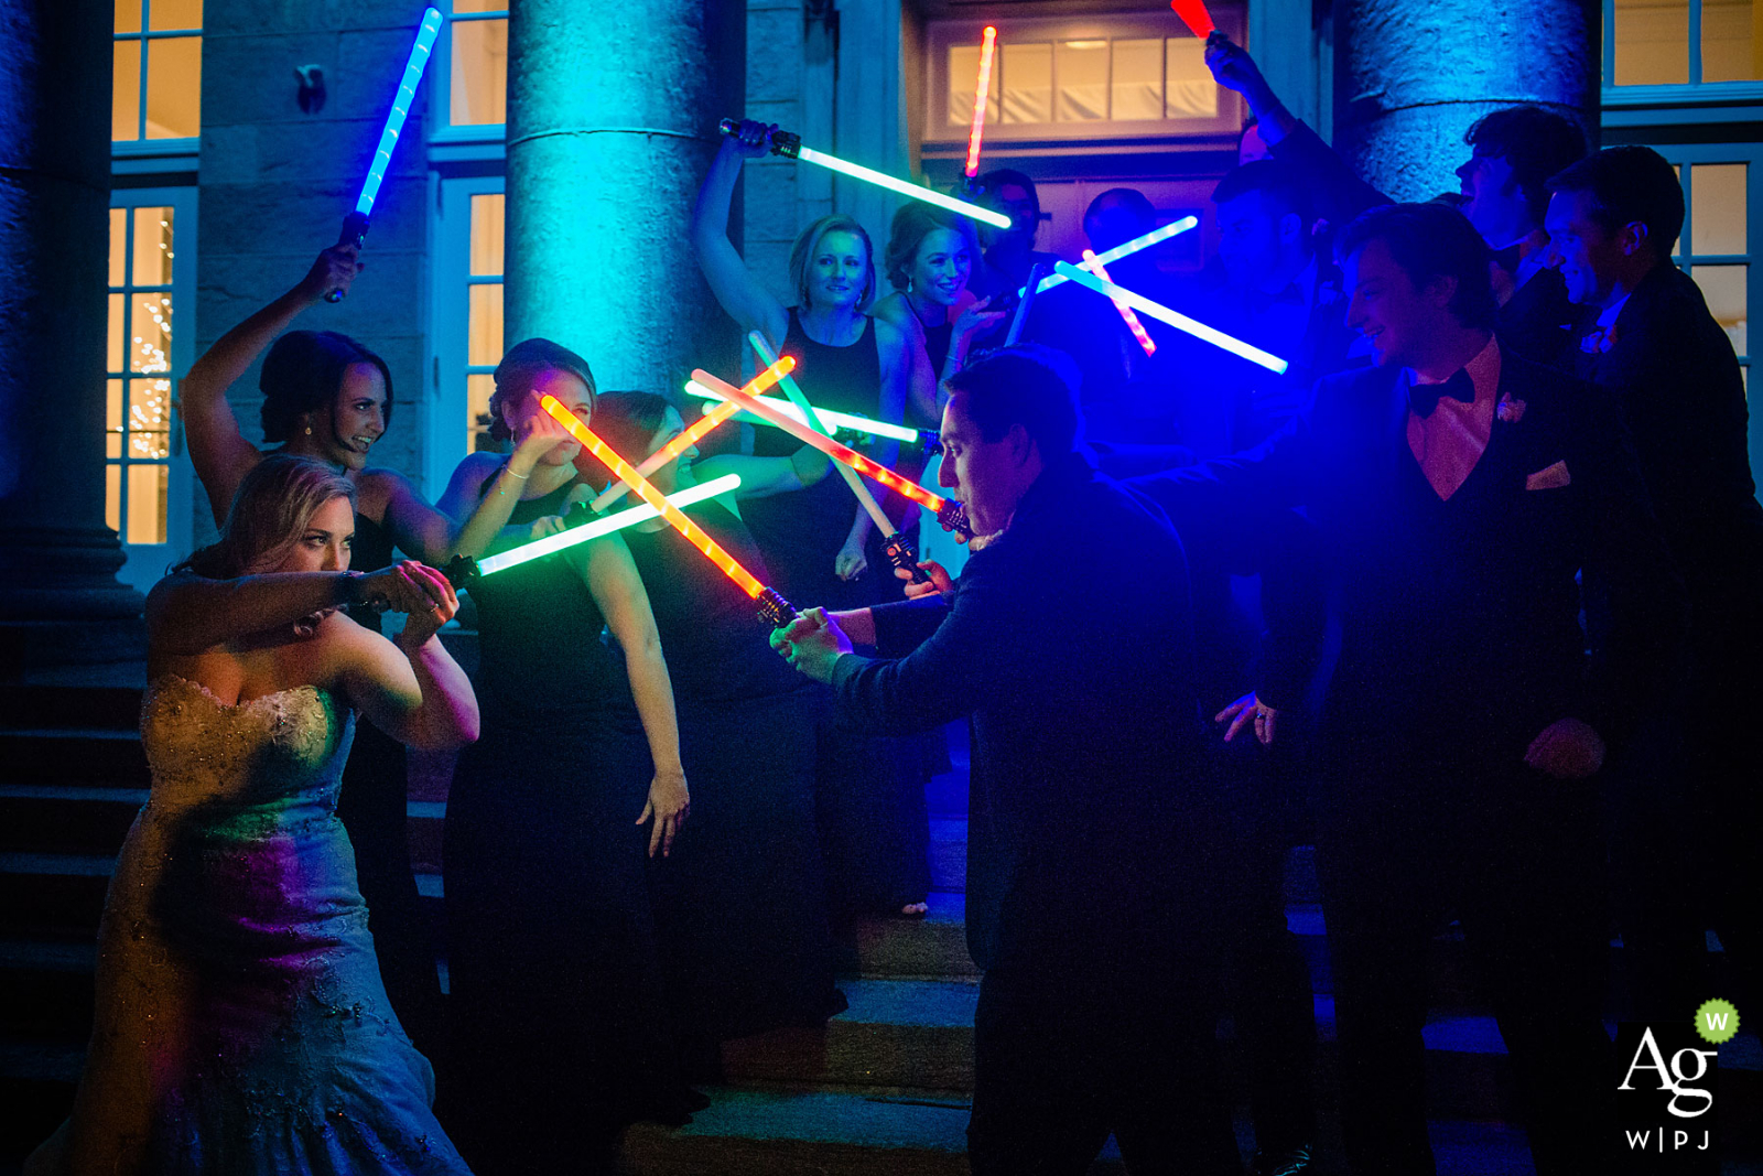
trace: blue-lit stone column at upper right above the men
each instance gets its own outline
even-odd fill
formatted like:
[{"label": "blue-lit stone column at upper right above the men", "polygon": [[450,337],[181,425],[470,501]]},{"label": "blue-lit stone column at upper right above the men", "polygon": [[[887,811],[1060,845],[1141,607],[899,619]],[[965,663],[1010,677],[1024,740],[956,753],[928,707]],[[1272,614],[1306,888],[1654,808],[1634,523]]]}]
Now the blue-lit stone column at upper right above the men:
[{"label": "blue-lit stone column at upper right above the men", "polygon": [[1395,199],[1454,192],[1463,132],[1536,102],[1597,136],[1596,0],[1340,0],[1335,143]]}]

